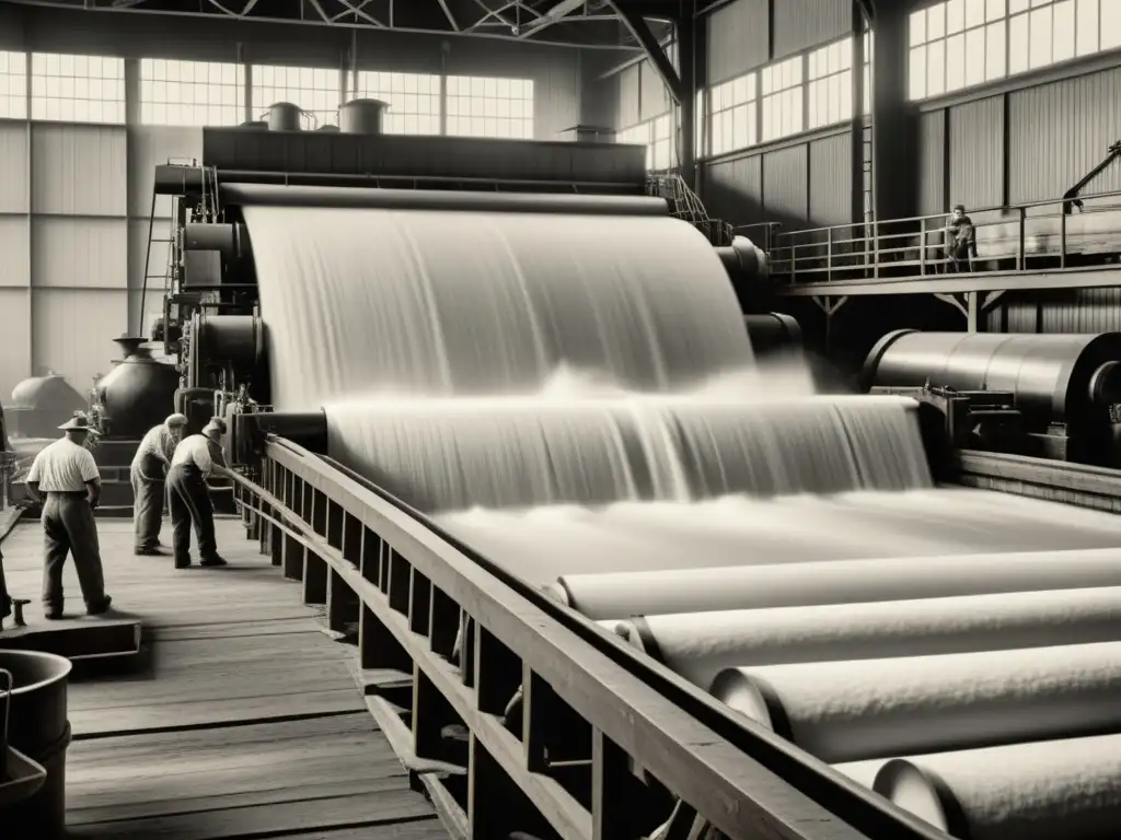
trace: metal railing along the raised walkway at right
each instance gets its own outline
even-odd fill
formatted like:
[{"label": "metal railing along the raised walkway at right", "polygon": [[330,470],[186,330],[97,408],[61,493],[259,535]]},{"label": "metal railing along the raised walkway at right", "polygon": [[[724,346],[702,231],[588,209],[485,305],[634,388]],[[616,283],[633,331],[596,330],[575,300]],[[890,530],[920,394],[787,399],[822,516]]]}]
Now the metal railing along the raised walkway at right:
[{"label": "metal railing along the raised walkway at right", "polygon": [[[1065,269],[1121,253],[1121,192],[1083,199],[1063,213],[1063,198],[971,208],[976,230],[972,270]],[[859,222],[803,231],[770,231],[771,277],[788,283],[832,279],[923,278],[953,271],[946,254],[947,214]]]}]

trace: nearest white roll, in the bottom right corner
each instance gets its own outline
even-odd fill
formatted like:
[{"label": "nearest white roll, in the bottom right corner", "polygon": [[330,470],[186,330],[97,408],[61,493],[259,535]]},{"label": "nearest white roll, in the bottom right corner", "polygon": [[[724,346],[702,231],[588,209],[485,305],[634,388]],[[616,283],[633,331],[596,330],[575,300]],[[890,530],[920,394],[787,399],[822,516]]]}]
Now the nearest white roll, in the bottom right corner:
[{"label": "nearest white roll, in the bottom right corner", "polygon": [[897,758],[873,790],[961,840],[1115,840],[1121,735]]}]

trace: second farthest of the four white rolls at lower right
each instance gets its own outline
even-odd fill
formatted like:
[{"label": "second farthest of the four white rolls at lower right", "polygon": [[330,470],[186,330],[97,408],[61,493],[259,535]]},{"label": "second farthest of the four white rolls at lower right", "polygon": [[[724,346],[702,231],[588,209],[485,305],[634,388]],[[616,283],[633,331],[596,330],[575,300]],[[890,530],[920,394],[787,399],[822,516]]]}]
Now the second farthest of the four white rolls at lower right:
[{"label": "second farthest of the four white rolls at lower right", "polygon": [[729,668],[1121,641],[1121,587],[652,615],[615,632],[695,685]]}]

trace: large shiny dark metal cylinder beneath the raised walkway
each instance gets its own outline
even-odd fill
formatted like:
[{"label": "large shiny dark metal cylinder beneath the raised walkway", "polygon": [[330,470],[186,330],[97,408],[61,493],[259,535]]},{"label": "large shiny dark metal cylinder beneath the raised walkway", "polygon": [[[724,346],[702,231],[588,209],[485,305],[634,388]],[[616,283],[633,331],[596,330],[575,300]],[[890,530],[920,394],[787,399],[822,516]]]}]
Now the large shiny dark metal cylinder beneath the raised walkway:
[{"label": "large shiny dark metal cylinder beneath the raised walkway", "polygon": [[[883,336],[864,363],[869,386],[1007,391],[1029,431],[1069,439],[1067,458],[1102,460],[1110,405],[1121,402],[1121,333]],[[1063,429],[1065,427],[1065,429]]]}]

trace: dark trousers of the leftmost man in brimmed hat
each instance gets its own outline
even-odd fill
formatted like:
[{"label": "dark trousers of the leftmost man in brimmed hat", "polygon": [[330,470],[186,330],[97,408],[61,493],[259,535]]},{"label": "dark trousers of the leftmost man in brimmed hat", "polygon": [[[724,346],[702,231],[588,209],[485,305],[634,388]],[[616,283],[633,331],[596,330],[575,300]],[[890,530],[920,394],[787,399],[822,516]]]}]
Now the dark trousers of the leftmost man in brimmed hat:
[{"label": "dark trousers of the leftmost man in brimmed hat", "polygon": [[96,609],[105,601],[105,578],[101,568],[98,523],[85,491],[47,493],[41,521],[44,612],[62,612],[63,567],[67,554],[74,556],[74,569],[86,608]]}]

